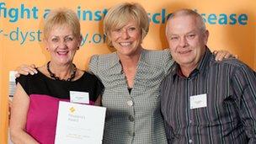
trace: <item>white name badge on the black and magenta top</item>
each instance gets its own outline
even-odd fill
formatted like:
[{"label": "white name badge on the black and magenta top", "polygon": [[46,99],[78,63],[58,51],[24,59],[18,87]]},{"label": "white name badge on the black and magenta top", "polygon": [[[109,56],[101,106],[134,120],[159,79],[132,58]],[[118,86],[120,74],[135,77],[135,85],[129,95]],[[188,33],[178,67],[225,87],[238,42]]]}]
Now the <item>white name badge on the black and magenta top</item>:
[{"label": "white name badge on the black and magenta top", "polygon": [[89,93],[70,91],[70,102],[79,104],[89,104]]}]

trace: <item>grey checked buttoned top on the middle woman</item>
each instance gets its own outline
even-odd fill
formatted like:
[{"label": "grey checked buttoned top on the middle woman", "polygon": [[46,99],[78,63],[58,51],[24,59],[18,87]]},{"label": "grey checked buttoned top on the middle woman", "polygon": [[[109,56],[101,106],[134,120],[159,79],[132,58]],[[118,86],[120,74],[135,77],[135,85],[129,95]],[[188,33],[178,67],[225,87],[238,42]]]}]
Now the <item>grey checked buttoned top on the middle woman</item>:
[{"label": "grey checked buttoned top on the middle woman", "polygon": [[131,94],[116,52],[93,56],[89,68],[104,83],[106,144],[167,143],[159,88],[173,61],[169,51],[143,49]]}]

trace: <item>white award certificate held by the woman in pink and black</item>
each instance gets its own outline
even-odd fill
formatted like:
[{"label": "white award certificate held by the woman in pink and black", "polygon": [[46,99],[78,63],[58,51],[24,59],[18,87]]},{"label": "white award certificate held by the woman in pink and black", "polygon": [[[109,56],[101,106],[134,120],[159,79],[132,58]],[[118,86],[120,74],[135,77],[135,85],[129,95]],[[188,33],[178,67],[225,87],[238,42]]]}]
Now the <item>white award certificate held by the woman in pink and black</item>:
[{"label": "white award certificate held by the woman in pink and black", "polygon": [[56,144],[102,143],[106,108],[60,102]]}]

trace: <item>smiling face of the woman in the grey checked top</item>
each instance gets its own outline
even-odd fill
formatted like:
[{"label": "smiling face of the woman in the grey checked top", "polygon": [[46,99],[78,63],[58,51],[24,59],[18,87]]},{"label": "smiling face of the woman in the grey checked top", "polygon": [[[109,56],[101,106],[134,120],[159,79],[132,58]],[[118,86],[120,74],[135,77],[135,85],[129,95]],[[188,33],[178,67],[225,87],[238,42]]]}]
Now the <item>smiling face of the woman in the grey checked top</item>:
[{"label": "smiling face of the woman in the grey checked top", "polygon": [[112,29],[109,36],[120,56],[131,56],[141,51],[141,28],[135,20],[122,28]]}]

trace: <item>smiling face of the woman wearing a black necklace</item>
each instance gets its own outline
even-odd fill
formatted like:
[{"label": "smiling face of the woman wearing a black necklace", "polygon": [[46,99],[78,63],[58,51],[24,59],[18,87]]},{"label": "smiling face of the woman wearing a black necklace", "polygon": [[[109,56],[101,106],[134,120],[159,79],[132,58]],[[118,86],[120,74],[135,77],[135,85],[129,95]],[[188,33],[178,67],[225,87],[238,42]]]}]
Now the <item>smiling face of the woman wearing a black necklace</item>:
[{"label": "smiling face of the woman wearing a black necklace", "polygon": [[45,40],[46,49],[51,54],[51,61],[59,65],[72,63],[79,48],[81,38],[73,34],[71,26],[55,25]]}]

